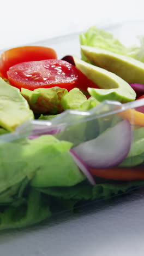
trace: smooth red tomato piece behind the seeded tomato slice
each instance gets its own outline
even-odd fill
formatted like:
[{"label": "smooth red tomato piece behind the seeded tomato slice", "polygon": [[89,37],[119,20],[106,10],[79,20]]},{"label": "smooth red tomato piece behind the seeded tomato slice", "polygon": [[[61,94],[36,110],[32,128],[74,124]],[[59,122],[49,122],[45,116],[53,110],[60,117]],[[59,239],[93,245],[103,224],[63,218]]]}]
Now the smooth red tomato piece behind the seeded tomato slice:
[{"label": "smooth red tomato piece behind the seeded tomato slice", "polygon": [[7,78],[7,71],[10,67],[27,61],[40,61],[57,59],[56,51],[44,46],[21,46],[4,51],[1,55],[0,74]]}]

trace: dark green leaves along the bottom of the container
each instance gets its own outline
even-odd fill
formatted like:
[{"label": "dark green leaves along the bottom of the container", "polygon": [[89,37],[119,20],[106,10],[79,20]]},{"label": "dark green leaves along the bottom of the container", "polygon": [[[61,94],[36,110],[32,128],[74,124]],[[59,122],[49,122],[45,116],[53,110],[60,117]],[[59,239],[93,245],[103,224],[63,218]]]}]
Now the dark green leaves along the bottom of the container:
[{"label": "dark green leaves along the bottom of the container", "polygon": [[63,210],[73,211],[75,207],[89,201],[110,199],[143,185],[144,181],[100,183],[95,186],[83,182],[73,187],[47,188],[31,188],[28,185],[27,193],[22,193],[16,201],[9,202],[4,209],[0,206],[0,230],[30,226]]}]

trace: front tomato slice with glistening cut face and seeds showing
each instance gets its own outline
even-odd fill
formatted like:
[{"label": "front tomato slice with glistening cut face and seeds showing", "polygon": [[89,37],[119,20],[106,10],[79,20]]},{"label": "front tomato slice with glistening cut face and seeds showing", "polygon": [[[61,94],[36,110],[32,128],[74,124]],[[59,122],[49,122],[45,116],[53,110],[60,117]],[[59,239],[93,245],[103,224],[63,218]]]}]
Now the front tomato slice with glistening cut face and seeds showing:
[{"label": "front tomato slice with glistening cut face and seeds showing", "polygon": [[58,86],[69,91],[78,80],[76,67],[63,60],[22,62],[10,67],[7,75],[11,85],[29,90]]}]

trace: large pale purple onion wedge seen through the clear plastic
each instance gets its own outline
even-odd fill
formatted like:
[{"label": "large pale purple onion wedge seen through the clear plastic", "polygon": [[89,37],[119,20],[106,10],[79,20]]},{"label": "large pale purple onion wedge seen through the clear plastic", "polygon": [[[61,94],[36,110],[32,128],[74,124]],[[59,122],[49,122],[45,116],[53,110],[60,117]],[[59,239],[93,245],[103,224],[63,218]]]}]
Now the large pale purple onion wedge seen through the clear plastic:
[{"label": "large pale purple onion wedge seen through the clear plastic", "polygon": [[108,168],[120,164],[128,155],[131,145],[131,126],[123,120],[107,129],[97,138],[73,148],[91,168]]}]

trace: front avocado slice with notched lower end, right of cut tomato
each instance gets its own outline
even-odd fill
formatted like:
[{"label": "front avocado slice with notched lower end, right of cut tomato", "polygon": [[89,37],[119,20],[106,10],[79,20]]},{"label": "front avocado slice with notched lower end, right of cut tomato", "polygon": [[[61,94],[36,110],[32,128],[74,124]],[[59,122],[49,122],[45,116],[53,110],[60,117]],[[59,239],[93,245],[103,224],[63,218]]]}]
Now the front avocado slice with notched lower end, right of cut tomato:
[{"label": "front avocado slice with notched lower end, right of cut tomato", "polygon": [[91,96],[98,101],[115,100],[122,103],[134,101],[135,91],[118,75],[107,71],[106,69],[96,67],[74,56],[76,67],[100,88],[88,88]]}]

